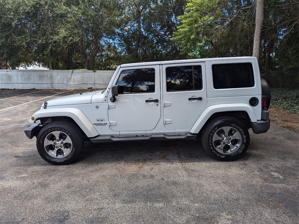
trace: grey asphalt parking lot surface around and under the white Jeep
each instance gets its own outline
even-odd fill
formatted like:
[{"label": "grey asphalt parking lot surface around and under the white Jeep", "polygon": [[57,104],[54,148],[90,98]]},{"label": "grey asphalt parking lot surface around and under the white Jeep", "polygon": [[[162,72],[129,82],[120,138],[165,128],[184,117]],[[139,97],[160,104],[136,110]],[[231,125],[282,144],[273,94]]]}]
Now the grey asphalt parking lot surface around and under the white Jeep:
[{"label": "grey asphalt parking lot surface around and under the white Jeep", "polygon": [[0,223],[299,222],[298,134],[250,131],[233,162],[167,140],[85,142],[78,161],[50,165],[24,130],[44,101],[74,92],[0,90]]}]

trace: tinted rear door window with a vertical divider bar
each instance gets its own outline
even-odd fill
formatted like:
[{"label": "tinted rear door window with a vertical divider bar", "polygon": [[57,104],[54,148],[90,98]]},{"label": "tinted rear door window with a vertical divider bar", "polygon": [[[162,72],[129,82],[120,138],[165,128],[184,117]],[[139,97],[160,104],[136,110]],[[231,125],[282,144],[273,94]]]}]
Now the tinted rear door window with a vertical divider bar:
[{"label": "tinted rear door window with a vertical divider bar", "polygon": [[201,90],[202,67],[179,66],[166,68],[167,91]]}]

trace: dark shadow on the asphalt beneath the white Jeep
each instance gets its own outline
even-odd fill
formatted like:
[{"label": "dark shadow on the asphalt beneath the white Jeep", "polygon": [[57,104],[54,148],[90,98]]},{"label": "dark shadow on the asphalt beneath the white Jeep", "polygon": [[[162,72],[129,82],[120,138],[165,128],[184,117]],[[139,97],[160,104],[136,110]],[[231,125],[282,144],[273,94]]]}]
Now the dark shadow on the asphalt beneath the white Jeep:
[{"label": "dark shadow on the asphalt beneath the white Jeep", "polygon": [[[245,154],[240,160],[248,160]],[[77,162],[110,163],[127,162],[221,162],[210,157],[201,141],[164,140],[138,142],[85,142],[84,150]]]}]

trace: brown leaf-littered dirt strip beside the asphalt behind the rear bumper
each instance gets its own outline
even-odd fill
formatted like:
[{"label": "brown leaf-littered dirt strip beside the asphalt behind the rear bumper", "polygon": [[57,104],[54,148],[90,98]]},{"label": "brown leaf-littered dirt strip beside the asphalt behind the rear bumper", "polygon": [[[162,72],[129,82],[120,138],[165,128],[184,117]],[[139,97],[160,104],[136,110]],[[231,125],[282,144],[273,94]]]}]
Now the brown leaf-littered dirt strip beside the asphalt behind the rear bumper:
[{"label": "brown leaf-littered dirt strip beside the asphalt behind the rear bumper", "polygon": [[270,107],[269,118],[271,123],[299,134],[299,114],[286,113],[283,110]]}]

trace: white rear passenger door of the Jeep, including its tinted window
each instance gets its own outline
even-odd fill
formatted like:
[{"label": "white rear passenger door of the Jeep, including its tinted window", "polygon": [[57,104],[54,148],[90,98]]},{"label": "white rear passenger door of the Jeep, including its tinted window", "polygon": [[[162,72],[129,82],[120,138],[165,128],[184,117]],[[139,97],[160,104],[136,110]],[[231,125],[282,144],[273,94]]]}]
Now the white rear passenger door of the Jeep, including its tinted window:
[{"label": "white rear passenger door of the Jeep, including its tinted window", "polygon": [[162,74],[165,128],[191,128],[207,105],[205,63],[162,65]]}]

